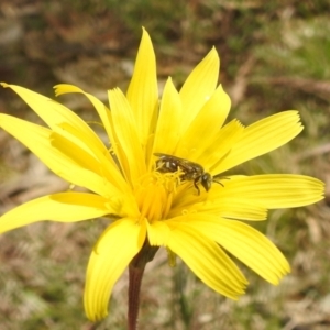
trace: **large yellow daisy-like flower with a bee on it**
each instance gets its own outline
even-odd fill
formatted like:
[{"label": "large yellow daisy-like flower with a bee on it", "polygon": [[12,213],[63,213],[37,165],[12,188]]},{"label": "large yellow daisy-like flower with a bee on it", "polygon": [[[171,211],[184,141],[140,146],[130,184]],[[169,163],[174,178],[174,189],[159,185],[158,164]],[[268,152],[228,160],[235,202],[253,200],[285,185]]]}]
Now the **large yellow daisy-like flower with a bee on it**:
[{"label": "large yellow daisy-like flower with a bee on it", "polygon": [[0,218],[0,231],[41,220],[119,217],[91,252],[85,288],[89,319],[107,316],[114,283],[146,240],[152,246],[165,246],[172,263],[178,255],[205,284],[232,299],[244,293],[248,280],[227,252],[275,285],[289,272],[277,248],[241,220],[261,221],[267,209],[316,202],[322,199],[321,182],[290,174],[222,175],[206,191],[198,177],[196,183],[189,177],[190,167],[173,168],[158,155],[189,160],[215,176],[275,150],[302,130],[297,111],[280,112],[246,128],[238,120],[224,124],[230,98],[221,85],[217,87],[218,75],[213,48],[180,91],[168,78],[158,101],[155,55],[143,31],[127,96],[118,88],[109,90],[110,108],[78,87],[56,86],[57,96],[79,92],[91,101],[108,133],[108,146],[65,106],[2,84],[48,128],[7,114],[0,114],[0,127],[56,175],[90,193],[72,190],[29,201]]}]

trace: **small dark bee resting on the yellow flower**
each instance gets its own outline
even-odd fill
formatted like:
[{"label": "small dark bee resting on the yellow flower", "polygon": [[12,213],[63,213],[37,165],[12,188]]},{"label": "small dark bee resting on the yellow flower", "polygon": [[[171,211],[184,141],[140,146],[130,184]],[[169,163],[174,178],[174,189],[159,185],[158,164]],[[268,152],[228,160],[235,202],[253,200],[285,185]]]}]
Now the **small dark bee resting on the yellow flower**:
[{"label": "small dark bee resting on the yellow flower", "polygon": [[180,179],[193,180],[194,186],[198,191],[198,195],[200,195],[198,183],[200,183],[204,186],[206,191],[209,191],[212,182],[223,186],[221,183],[216,182],[213,177],[208,172],[205,172],[204,167],[197,163],[190,162],[185,158],[162,154],[162,153],[155,153],[154,155],[160,157],[156,161],[156,167],[158,172],[168,173],[168,172],[177,172],[180,169],[183,172]]}]

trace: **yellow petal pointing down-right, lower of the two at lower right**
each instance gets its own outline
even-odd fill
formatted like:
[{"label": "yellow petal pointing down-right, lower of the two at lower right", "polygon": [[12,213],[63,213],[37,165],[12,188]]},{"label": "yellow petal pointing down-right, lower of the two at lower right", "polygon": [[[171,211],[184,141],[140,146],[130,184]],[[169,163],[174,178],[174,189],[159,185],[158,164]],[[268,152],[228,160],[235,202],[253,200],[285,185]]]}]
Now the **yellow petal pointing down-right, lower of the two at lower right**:
[{"label": "yellow petal pointing down-right, lower of the two at lower right", "polygon": [[[166,222],[177,226],[176,221]],[[216,242],[199,231],[180,223],[170,232],[167,246],[216,292],[232,299],[244,293],[248,282],[240,270]]]}]

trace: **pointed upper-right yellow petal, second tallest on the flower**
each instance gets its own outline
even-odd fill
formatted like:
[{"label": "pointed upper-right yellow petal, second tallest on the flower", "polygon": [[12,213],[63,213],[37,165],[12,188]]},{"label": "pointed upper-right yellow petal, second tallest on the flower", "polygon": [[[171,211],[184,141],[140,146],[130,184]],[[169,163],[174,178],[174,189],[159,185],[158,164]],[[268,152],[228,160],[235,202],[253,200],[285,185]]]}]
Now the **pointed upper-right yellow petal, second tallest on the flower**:
[{"label": "pointed upper-right yellow petal, second tallest on the flower", "polygon": [[219,68],[220,59],[216,48],[212,48],[185,81],[179,92],[184,109],[180,134],[188,129],[199,110],[215,92]]}]

